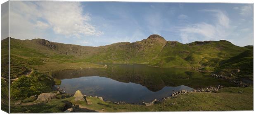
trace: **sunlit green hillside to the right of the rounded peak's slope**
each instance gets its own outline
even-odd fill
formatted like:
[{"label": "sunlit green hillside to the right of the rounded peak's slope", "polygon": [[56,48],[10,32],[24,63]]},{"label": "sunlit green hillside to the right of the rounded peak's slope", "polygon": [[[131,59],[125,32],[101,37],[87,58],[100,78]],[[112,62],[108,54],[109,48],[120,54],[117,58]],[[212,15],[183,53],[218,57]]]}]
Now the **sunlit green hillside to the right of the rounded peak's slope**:
[{"label": "sunlit green hillside to the right of the rounded peak's slope", "polygon": [[154,66],[174,67],[216,67],[223,60],[229,59],[248,50],[235,46],[228,41],[195,41],[182,44],[168,41],[158,57],[151,64]]}]

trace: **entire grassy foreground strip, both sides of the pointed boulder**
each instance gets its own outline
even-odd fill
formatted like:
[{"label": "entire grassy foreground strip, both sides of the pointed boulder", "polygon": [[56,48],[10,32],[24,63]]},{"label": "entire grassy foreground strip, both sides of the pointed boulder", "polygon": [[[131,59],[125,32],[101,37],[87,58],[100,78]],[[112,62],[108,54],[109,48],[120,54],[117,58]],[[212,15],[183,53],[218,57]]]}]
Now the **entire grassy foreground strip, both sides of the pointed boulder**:
[{"label": "entire grassy foreground strip, both sides of the pointed boulder", "polygon": [[[240,93],[239,93],[240,91]],[[98,98],[87,97],[87,101],[75,102],[74,98],[54,99],[45,104],[14,106],[11,112],[63,112],[59,107],[67,102],[79,105],[79,109],[96,112],[155,112],[155,111],[224,111],[253,110],[253,88],[230,87],[220,89],[217,93],[193,92],[152,106],[133,104],[114,104]],[[87,102],[92,103],[88,105]],[[39,109],[40,107],[40,109]]]}]

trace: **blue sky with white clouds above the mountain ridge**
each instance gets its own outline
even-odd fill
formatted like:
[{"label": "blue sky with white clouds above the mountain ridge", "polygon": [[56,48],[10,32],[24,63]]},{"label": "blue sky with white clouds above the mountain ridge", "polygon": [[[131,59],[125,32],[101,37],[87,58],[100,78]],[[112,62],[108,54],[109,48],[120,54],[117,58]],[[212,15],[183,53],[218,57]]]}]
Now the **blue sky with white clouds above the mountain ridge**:
[{"label": "blue sky with white clouds above the mountain ridge", "polygon": [[253,4],[10,1],[10,36],[16,39],[104,46],[151,34],[181,43],[253,45]]}]

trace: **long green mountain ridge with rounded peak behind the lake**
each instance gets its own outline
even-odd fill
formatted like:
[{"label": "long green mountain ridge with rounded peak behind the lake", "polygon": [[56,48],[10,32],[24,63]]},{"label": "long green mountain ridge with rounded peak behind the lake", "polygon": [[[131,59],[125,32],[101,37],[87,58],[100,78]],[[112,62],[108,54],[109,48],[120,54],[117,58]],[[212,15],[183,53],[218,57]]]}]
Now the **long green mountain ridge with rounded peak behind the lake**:
[{"label": "long green mountain ridge with rounded peak behind the lake", "polygon": [[[2,40],[5,42],[7,39]],[[26,65],[56,63],[118,63],[148,64],[159,67],[216,68],[224,61],[253,46],[239,47],[229,41],[195,41],[179,43],[166,41],[153,34],[142,41],[113,43],[107,46],[78,46],[45,39],[19,40],[10,38],[11,66],[23,73]],[[2,50],[4,47],[1,47]],[[17,64],[17,65],[15,65]],[[15,69],[14,68],[14,69]]]}]

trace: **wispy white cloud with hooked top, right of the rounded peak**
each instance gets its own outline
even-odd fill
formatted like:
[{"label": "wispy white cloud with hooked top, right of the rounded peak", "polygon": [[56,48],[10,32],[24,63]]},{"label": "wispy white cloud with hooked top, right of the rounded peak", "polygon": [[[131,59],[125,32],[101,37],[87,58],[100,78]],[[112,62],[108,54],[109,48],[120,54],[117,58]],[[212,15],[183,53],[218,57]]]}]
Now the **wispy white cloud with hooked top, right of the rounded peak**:
[{"label": "wispy white cloud with hooked top, right of the rounded peak", "polygon": [[180,37],[183,43],[194,40],[220,40],[230,34],[229,30],[232,30],[230,19],[223,11],[216,9],[201,11],[212,12],[216,21],[213,24],[201,22],[182,27]]}]

